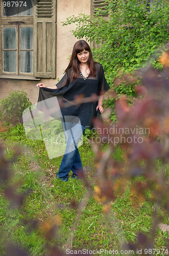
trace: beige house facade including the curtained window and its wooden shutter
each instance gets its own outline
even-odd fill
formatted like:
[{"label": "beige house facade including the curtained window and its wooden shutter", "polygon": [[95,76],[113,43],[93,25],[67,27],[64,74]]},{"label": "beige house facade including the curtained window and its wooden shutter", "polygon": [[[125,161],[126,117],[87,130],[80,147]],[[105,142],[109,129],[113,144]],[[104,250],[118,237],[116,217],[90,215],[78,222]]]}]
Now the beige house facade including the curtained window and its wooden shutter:
[{"label": "beige house facade including the curtained window and its wooden shutter", "polygon": [[54,86],[62,78],[77,41],[70,32],[76,26],[62,26],[62,22],[72,15],[90,15],[91,8],[91,0],[1,1],[0,99],[24,89],[35,103],[39,92],[36,83]]}]

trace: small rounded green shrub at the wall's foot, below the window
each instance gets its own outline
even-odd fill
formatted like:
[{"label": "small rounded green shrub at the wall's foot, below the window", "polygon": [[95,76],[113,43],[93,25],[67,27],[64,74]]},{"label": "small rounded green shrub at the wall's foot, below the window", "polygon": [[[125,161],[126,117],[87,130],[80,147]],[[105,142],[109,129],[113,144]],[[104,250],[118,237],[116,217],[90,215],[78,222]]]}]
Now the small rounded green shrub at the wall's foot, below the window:
[{"label": "small rounded green shrub at the wall's foot, below the window", "polygon": [[32,105],[26,92],[14,91],[7,98],[1,100],[1,119],[7,123],[22,123],[22,113],[25,109]]}]

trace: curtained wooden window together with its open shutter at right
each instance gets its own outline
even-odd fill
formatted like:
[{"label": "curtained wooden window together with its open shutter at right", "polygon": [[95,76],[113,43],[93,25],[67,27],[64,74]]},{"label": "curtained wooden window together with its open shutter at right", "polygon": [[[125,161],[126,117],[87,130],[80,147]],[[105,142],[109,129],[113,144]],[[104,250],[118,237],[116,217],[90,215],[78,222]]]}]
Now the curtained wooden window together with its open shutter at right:
[{"label": "curtained wooden window together with its open shutter at right", "polygon": [[55,78],[55,0],[2,0],[0,77]]}]

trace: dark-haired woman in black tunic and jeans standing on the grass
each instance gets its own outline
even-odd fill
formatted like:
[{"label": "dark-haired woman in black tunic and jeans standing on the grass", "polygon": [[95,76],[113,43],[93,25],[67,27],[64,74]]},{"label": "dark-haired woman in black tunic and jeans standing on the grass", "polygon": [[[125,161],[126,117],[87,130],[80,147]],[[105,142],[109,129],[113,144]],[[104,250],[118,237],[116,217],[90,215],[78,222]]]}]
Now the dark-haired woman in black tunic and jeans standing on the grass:
[{"label": "dark-haired woman in black tunic and jeans standing on the grass", "polygon": [[[63,129],[66,138],[66,151],[57,177],[63,181],[68,181],[70,170],[73,172],[72,178],[81,177],[83,170],[77,144],[85,131],[85,127],[91,127],[96,111],[99,109],[100,113],[103,112],[103,95],[109,89],[103,68],[93,60],[88,43],[85,40],[79,40],[73,47],[65,75],[56,84],[57,89],[46,88],[43,83],[38,83],[36,86],[42,88],[38,101],[52,96],[62,96],[63,102],[69,103],[69,107],[61,109],[64,117]],[[92,95],[98,95],[98,101],[86,100]],[[83,103],[71,104],[76,98],[80,98]],[[78,117],[80,122],[67,121],[67,117]],[[67,131],[71,132],[67,133]]]}]

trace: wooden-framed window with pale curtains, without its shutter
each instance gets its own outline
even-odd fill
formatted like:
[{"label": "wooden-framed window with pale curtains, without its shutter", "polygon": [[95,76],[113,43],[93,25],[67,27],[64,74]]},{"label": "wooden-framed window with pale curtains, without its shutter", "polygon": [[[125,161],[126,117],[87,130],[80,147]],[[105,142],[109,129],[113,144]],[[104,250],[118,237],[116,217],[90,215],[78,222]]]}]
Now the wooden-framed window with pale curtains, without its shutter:
[{"label": "wooden-framed window with pale curtains, without its shutter", "polygon": [[1,2],[1,38],[1,74],[33,75],[33,0]]}]

